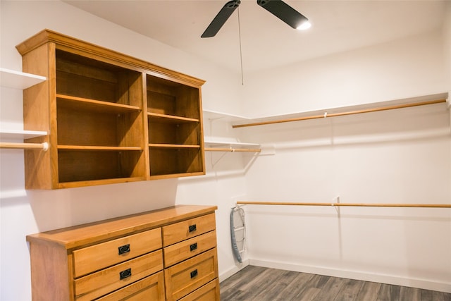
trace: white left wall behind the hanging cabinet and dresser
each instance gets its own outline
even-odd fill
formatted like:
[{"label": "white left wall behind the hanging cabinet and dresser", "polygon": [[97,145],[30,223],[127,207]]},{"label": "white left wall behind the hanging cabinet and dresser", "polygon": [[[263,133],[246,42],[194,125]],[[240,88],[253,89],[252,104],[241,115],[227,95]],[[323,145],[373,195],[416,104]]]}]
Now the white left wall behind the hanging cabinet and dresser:
[{"label": "white left wall behind the hanging cabinet and dresser", "polygon": [[[235,74],[221,70],[178,49],[109,23],[61,1],[0,1],[1,67],[21,70],[16,45],[44,28],[99,44],[157,65],[207,80],[202,87],[205,107],[240,111]],[[1,88],[1,127],[23,128],[22,92]],[[209,154],[207,154],[209,159]],[[228,161],[230,161],[228,163]],[[221,161],[240,169],[233,157]],[[219,273],[235,264],[228,234],[228,209],[235,195],[243,195],[242,173],[223,179],[221,166],[207,161],[208,176],[192,180],[155,180],[65,190],[24,190],[23,151],[0,150],[0,300],[27,301],[31,296],[30,256],[25,236],[113,216],[173,204],[218,205]],[[221,170],[221,169],[219,169]]]}]

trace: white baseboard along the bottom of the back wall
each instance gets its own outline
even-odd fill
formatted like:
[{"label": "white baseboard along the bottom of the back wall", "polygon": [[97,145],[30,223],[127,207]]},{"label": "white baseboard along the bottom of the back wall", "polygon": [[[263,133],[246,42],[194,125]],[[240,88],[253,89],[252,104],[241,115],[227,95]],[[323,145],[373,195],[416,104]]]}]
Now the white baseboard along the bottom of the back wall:
[{"label": "white baseboard along the bottom of the back wall", "polygon": [[[320,266],[303,266],[284,262],[270,262],[266,260],[249,259],[249,265],[264,266],[272,269],[283,269],[288,271],[299,271],[309,274],[319,274],[340,278],[349,278],[362,281],[372,281],[378,283],[388,283],[393,285],[408,286],[411,288],[422,288],[425,290],[436,290],[439,292],[451,293],[451,282],[435,282],[427,279],[404,278],[383,274],[369,274],[361,271],[346,271],[340,269],[328,269]],[[244,267],[244,266],[243,266]],[[231,275],[230,275],[231,276]]]}]

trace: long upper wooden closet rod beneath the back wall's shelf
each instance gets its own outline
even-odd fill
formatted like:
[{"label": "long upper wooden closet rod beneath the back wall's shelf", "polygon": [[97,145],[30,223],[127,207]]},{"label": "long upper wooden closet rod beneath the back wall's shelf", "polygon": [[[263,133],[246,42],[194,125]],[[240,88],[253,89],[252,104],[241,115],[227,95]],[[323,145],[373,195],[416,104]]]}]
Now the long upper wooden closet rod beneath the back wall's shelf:
[{"label": "long upper wooden closet rod beneath the back wall's shelf", "polygon": [[324,113],[323,115],[314,115],[314,116],[306,116],[306,117],[298,117],[298,118],[280,119],[280,120],[276,120],[276,121],[261,121],[261,122],[256,122],[256,123],[237,124],[237,125],[232,125],[232,128],[245,128],[247,126],[255,126],[255,125],[266,125],[266,124],[273,124],[273,123],[285,123],[285,122],[292,122],[292,121],[304,121],[304,120],[309,120],[309,119],[319,119],[319,118],[328,118],[328,117],[336,117],[336,116],[354,115],[354,114],[360,114],[360,113],[387,111],[387,110],[393,110],[393,109],[409,108],[409,107],[412,107],[412,106],[425,106],[426,104],[441,104],[443,102],[446,102],[446,99],[437,99],[437,100],[431,100],[431,101],[428,101],[428,102],[415,102],[413,104],[397,104],[397,105],[393,105],[393,106],[381,106],[379,108],[363,109],[363,110],[349,111],[349,112],[342,112],[342,113],[330,113],[330,114],[328,114],[327,111],[326,111],[326,113]]}]

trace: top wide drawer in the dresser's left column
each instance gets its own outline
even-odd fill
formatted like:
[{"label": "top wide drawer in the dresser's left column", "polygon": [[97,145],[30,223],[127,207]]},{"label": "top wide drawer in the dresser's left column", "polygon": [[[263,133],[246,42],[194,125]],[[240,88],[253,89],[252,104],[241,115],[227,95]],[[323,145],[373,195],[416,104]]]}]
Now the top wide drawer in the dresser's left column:
[{"label": "top wide drawer in the dresser's left column", "polygon": [[74,278],[161,248],[161,230],[152,229],[73,252]]}]

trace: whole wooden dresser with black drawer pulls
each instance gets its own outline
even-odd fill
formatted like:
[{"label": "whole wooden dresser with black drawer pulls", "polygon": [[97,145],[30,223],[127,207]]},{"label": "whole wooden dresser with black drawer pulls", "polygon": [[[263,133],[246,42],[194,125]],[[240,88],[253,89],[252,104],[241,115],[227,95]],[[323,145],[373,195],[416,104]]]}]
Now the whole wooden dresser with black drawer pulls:
[{"label": "whole wooden dresser with black drawer pulls", "polygon": [[220,300],[216,206],[27,235],[32,300]]}]

